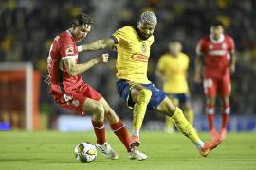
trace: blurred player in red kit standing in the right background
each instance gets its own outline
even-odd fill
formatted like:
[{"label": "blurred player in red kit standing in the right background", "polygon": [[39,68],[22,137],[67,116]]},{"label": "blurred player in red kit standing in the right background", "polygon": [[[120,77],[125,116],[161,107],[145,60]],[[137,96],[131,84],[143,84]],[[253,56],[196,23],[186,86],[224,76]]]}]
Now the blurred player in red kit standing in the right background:
[{"label": "blurred player in red kit standing in the right background", "polygon": [[[204,91],[207,96],[206,113],[210,134],[214,139],[223,141],[227,135],[231,91],[230,73],[235,71],[235,45],[229,35],[224,34],[224,26],[220,21],[210,25],[210,35],[202,38],[196,47],[195,82],[201,82],[201,71],[204,65]],[[214,127],[216,95],[222,100],[222,125],[219,133]]]}]

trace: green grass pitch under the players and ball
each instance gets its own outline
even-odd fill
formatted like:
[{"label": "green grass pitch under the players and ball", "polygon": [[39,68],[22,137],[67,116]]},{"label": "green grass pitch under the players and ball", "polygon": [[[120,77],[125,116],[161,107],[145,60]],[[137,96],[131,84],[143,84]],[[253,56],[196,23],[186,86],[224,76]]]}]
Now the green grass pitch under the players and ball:
[{"label": "green grass pitch under the players and ball", "polygon": [[[208,134],[200,134],[210,139]],[[96,161],[79,163],[74,147],[82,141],[94,142],[93,133],[0,132],[0,169],[61,170],[255,170],[256,134],[229,133],[227,140],[201,158],[188,139],[177,134],[142,132],[140,150],[146,161],[129,160],[127,154],[109,131],[108,142],[119,153],[119,160],[105,159],[100,152]]]}]

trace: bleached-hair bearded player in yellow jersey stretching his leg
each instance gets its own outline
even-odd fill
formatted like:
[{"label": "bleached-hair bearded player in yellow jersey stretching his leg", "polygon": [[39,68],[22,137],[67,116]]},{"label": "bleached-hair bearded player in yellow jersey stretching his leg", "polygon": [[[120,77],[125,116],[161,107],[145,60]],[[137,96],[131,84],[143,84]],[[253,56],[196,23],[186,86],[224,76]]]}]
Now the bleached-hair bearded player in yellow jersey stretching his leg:
[{"label": "bleached-hair bearded player in yellow jersey stretching his leg", "polygon": [[118,58],[116,62],[117,91],[119,96],[133,108],[133,137],[131,145],[138,146],[139,130],[147,109],[158,110],[172,117],[176,127],[196,145],[199,153],[206,157],[210,150],[219,142],[204,143],[197,135],[192,125],[186,120],[182,110],[175,107],[171,99],[163,91],[155,88],[147,77],[150,47],[154,42],[154,30],[157,24],[155,13],[143,12],[137,26],[124,26],[112,37],[101,39],[78,47],[79,51],[98,50],[106,47],[116,47]]}]

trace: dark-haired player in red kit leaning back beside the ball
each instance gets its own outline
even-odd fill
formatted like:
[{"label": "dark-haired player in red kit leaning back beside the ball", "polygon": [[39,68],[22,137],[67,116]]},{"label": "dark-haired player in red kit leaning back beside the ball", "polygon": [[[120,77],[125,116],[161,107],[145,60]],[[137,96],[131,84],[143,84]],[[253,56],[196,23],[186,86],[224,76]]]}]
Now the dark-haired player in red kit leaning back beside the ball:
[{"label": "dark-haired player in red kit leaning back beside the ball", "polygon": [[126,127],[118,115],[112,110],[106,100],[82,80],[82,72],[88,70],[100,62],[108,61],[108,54],[102,54],[98,58],[85,63],[77,63],[78,49],[76,42],[81,42],[90,32],[92,20],[85,14],[77,15],[71,27],[59,34],[50,47],[47,58],[49,72],[50,94],[54,101],[67,110],[74,110],[79,114],[92,114],[92,125],[97,137],[96,147],[107,157],[118,159],[118,154],[106,142],[104,118],[106,118],[114,133],[124,144],[130,159],[145,160],[147,156],[132,147]]}]

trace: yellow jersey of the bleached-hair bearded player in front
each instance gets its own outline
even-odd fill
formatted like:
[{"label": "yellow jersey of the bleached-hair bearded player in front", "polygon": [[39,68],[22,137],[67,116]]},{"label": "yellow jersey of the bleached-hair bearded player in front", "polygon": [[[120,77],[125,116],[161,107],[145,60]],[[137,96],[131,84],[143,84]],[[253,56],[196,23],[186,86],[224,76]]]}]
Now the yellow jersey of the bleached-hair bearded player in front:
[{"label": "yellow jersey of the bleached-hair bearded player in front", "polygon": [[150,47],[154,42],[152,35],[147,40],[140,39],[135,26],[124,26],[113,34],[118,43],[116,62],[118,79],[126,79],[140,84],[151,83],[148,80],[148,60]]}]

